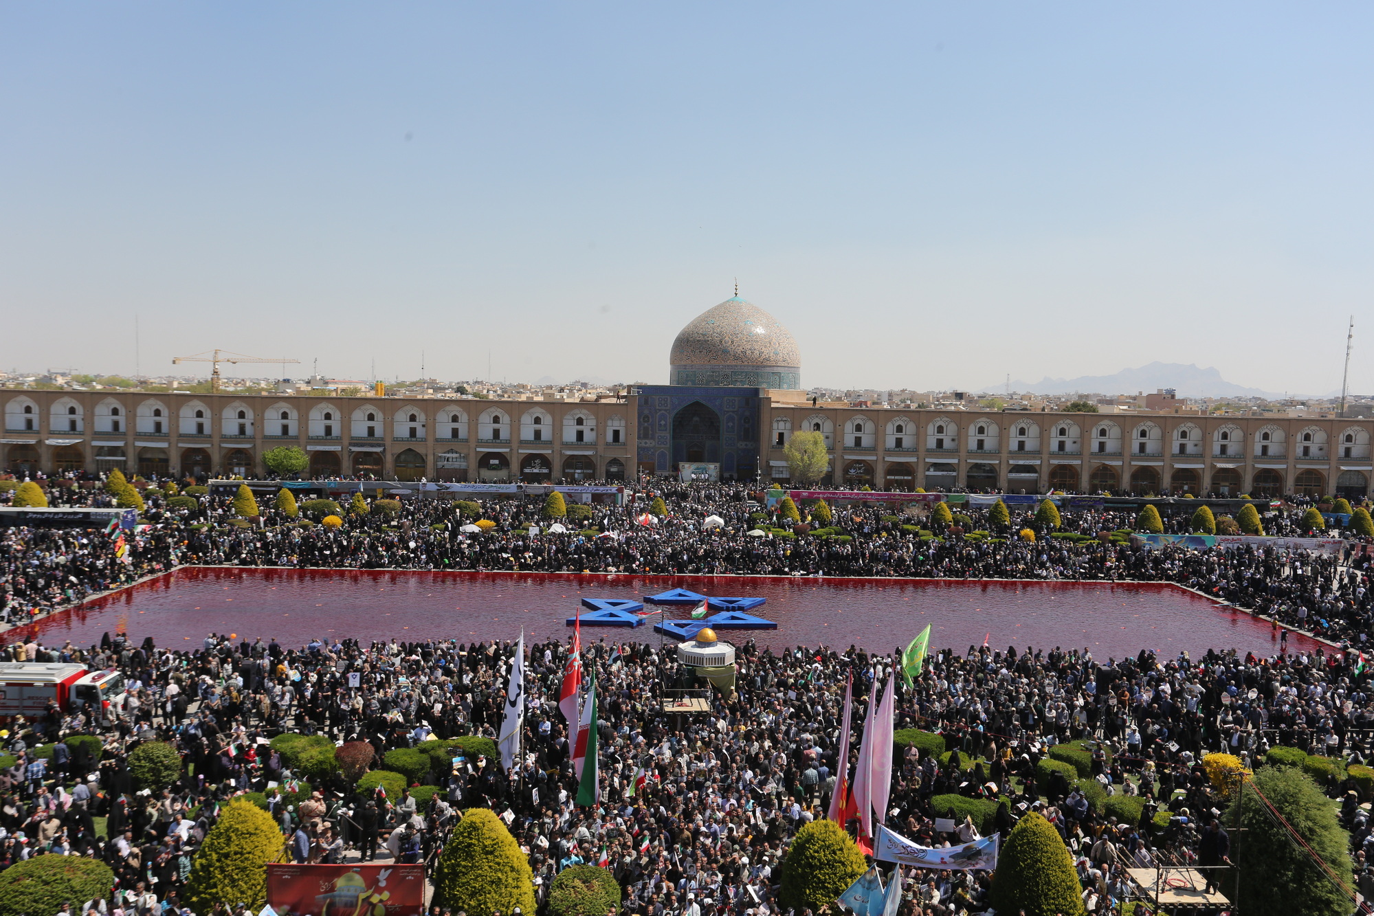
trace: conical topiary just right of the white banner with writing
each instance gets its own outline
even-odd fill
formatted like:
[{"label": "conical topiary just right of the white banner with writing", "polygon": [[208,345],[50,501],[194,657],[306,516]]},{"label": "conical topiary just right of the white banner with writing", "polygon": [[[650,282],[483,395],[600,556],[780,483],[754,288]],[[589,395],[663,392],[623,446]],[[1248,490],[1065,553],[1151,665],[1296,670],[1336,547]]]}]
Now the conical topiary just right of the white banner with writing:
[{"label": "conical topiary just right of the white banner with writing", "polygon": [[999,913],[1083,916],[1079,875],[1069,849],[1050,821],[1025,814],[1002,843],[992,875],[992,905]]}]

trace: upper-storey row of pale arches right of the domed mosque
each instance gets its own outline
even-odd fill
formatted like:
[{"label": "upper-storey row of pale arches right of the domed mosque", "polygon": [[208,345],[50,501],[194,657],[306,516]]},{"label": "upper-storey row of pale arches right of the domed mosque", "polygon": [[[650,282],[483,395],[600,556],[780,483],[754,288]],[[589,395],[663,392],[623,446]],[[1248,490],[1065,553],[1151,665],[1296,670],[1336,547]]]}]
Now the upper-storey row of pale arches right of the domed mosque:
[{"label": "upper-storey row of pale arches right of the domed mosque", "polygon": [[[820,433],[827,448],[835,448],[835,424],[826,415],[815,413],[797,424],[798,430]],[[772,446],[782,448],[793,434],[793,419],[778,416],[772,420]],[[868,416],[855,415],[841,423],[841,449],[875,449],[878,445],[878,424]],[[1212,455],[1215,457],[1243,456],[1246,449],[1245,431],[1232,423],[1223,424],[1209,435],[1195,423],[1182,423],[1165,431],[1158,423],[1146,420],[1127,428],[1114,420],[1098,420],[1084,428],[1077,422],[1061,420],[1041,428],[1036,420],[1021,420],[1004,430],[992,420],[974,420],[960,426],[948,416],[929,420],[925,428],[908,416],[888,420],[881,431],[883,449],[916,450],[918,441],[925,438],[925,449],[930,452],[1002,452],[1006,439],[1009,453],[1040,453],[1048,450],[1059,455]],[[1289,442],[1289,434],[1276,424],[1264,426],[1249,435],[1250,452],[1254,457],[1327,459],[1327,431],[1318,426],[1298,430]],[[1369,430],[1351,426],[1337,434],[1336,455],[1359,459],[1370,456]]]}]

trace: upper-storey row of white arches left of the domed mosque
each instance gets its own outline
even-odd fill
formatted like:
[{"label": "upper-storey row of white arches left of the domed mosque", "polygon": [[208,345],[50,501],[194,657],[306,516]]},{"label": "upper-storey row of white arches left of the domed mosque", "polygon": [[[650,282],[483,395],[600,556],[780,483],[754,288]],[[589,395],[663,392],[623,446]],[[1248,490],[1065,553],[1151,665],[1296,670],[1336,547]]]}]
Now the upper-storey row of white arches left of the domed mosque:
[{"label": "upper-storey row of white arches left of the domed mosque", "polygon": [[[518,415],[518,423],[513,424],[513,416],[502,408],[486,408],[475,417],[467,409],[456,405],[445,405],[430,411],[419,405],[405,405],[394,411],[382,411],[374,404],[363,404],[352,411],[342,411],[337,405],[323,401],[313,405],[304,417],[305,428],[301,428],[302,417],[290,402],[279,401],[258,413],[245,401],[232,401],[220,409],[220,434],[228,437],[256,437],[258,426],[261,433],[271,438],[298,438],[305,434],[309,438],[328,439],[344,438],[385,438],[386,424],[390,423],[393,438],[427,439],[430,433],[438,439],[466,442],[470,424],[475,420],[477,438],[482,441],[510,441],[513,431],[518,427],[519,438],[523,441],[543,442],[554,441],[555,428],[561,423],[562,441],[567,444],[595,444],[598,441],[598,419],[591,411],[577,408],[565,413],[558,422],[543,408],[530,408]],[[52,433],[85,433],[85,407],[70,397],[58,398],[48,408],[47,430]],[[43,431],[40,423],[40,407],[29,397],[15,397],[5,402],[5,430],[15,433]],[[176,433],[179,435],[210,435],[213,433],[214,416],[210,408],[202,401],[188,401],[183,404],[176,415]],[[136,433],[143,435],[168,435],[173,431],[173,416],[169,408],[157,398],[139,402],[129,413],[129,408],[115,398],[106,398],[93,408],[92,431],[95,433]],[[605,441],[609,445],[621,445],[625,438],[625,419],[613,415],[605,423]]]}]

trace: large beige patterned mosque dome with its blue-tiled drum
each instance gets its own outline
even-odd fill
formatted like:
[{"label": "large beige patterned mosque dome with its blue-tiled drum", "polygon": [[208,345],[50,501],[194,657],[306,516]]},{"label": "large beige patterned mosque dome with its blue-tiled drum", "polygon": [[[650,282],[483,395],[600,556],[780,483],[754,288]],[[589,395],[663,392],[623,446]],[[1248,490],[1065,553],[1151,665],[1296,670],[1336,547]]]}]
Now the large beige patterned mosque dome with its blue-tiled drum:
[{"label": "large beige patterned mosque dome with its blue-tiled drum", "polygon": [[673,341],[669,363],[669,385],[801,387],[791,332],[738,295],[692,319]]}]

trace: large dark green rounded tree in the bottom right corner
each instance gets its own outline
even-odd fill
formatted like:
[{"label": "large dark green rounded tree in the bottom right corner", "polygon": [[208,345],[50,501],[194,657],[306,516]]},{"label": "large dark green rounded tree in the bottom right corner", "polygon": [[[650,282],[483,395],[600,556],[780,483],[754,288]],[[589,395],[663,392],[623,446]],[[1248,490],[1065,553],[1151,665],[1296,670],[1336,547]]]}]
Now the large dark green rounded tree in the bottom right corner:
[{"label": "large dark green rounded tree in the bottom right corner", "polygon": [[[1259,792],[1256,792],[1259,790]],[[1353,904],[1333,884],[1303,846],[1275,821],[1264,799],[1347,887],[1351,879],[1349,835],[1341,829],[1336,808],[1311,777],[1293,766],[1261,766],[1241,788],[1226,814],[1231,832],[1231,860],[1239,871],[1237,909],[1246,916],[1345,916]],[[1239,806],[1239,818],[1237,818]],[[1237,843],[1234,824],[1243,840]],[[1223,890],[1234,894],[1234,873]]]}]

